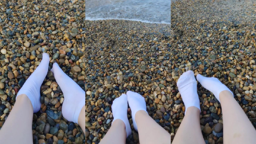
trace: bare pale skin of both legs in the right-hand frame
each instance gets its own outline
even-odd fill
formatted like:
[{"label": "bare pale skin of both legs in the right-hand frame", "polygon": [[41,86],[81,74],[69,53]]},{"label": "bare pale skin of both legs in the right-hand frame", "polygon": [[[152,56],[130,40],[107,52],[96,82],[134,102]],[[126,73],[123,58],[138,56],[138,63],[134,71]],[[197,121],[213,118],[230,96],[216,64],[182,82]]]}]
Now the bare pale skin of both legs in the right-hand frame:
[{"label": "bare pale skin of both legs in the right-hand frame", "polygon": [[[256,130],[233,95],[225,90],[220,92],[219,99],[223,114],[224,144],[254,144],[256,142]],[[200,111],[196,107],[187,109],[173,139],[173,144],[205,143],[200,128],[199,114]]]}]

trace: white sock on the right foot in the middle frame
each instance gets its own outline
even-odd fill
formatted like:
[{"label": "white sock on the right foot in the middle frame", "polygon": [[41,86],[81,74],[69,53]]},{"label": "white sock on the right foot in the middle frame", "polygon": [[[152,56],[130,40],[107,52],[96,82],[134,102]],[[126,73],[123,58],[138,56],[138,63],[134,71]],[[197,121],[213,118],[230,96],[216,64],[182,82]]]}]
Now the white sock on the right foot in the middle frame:
[{"label": "white sock on the right foot in the middle frame", "polygon": [[128,104],[132,111],[132,119],[133,119],[133,127],[136,131],[138,131],[138,127],[135,121],[135,114],[139,110],[144,110],[147,112],[146,109],[146,101],[140,94],[132,91],[127,91],[127,100]]}]

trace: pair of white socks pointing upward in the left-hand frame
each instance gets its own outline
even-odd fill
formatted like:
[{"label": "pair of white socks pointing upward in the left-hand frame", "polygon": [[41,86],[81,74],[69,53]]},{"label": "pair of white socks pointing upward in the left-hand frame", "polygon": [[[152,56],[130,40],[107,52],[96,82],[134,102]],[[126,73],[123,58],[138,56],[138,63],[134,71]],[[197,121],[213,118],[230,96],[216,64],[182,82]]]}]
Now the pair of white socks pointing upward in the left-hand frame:
[{"label": "pair of white socks pointing upward in the left-hand frame", "polygon": [[[41,107],[40,87],[48,72],[50,58],[47,53],[43,53],[43,59],[36,70],[29,76],[22,88],[18,91],[16,100],[21,94],[26,94],[33,106],[34,113]],[[74,123],[78,123],[78,116],[85,105],[85,91],[66,75],[57,63],[53,64],[51,70],[59,87],[61,88],[64,101],[62,104],[63,117]]]}]

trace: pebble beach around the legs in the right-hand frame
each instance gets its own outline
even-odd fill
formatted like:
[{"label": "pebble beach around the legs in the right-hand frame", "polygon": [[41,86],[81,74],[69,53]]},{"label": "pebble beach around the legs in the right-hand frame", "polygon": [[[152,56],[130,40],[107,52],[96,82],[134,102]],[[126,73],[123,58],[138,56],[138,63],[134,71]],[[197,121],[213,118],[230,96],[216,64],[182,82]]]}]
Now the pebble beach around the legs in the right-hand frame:
[{"label": "pebble beach around the legs in the right-hand frame", "polygon": [[[186,5],[186,7],[184,7]],[[216,77],[256,127],[256,7],[252,1],[174,1],[171,5],[171,139],[184,117],[176,82],[187,70]],[[221,104],[197,85],[206,144],[223,143]]]}]

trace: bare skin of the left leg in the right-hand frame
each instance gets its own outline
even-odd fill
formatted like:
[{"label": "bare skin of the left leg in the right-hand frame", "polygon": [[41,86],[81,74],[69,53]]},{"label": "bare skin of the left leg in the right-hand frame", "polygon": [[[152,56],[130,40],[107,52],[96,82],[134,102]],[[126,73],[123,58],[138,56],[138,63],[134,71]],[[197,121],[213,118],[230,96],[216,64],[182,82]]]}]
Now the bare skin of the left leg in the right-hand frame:
[{"label": "bare skin of the left leg in the right-hand frame", "polygon": [[173,144],[204,144],[200,128],[200,110],[197,107],[188,107],[181,125],[172,141]]}]

